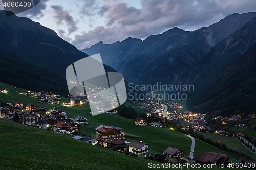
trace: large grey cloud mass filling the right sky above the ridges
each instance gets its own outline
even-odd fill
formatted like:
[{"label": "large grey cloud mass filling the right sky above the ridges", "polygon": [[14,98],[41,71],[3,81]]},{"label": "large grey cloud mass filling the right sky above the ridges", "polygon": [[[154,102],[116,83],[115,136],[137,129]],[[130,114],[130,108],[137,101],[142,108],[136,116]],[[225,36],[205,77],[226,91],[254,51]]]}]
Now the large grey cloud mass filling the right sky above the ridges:
[{"label": "large grey cloud mass filling the right sky above the ridges", "polygon": [[255,0],[141,0],[141,9],[115,0],[104,2],[96,14],[106,19],[106,25],[76,35],[72,43],[78,48],[90,47],[99,41],[113,43],[127,37],[143,39],[175,26],[196,30],[229,14],[256,9]]}]

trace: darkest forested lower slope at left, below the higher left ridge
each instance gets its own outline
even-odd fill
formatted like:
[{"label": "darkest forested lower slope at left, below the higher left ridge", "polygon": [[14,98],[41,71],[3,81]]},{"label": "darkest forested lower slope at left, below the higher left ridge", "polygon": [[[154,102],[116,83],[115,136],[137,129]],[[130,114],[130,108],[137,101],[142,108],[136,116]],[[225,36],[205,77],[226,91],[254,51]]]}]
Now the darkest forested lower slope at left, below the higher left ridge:
[{"label": "darkest forested lower slope at left, below the higher left ridge", "polygon": [[0,82],[37,91],[68,94],[65,76],[0,48]]}]

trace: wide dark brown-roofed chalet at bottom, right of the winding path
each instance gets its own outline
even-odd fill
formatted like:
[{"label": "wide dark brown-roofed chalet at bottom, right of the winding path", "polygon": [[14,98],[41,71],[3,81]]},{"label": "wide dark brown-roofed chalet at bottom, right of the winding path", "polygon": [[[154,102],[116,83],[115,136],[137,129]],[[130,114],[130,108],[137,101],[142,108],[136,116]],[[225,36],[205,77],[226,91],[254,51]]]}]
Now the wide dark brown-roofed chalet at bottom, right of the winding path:
[{"label": "wide dark brown-roofed chalet at bottom, right of the winding path", "polygon": [[227,164],[228,156],[226,154],[216,153],[216,152],[204,152],[198,153],[192,160],[200,164]]}]

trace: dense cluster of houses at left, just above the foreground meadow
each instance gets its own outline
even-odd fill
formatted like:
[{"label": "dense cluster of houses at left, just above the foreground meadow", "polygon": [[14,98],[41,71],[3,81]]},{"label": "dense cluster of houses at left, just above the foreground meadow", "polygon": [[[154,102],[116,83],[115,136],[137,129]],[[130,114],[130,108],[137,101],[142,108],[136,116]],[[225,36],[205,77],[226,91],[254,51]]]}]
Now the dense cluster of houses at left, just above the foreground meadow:
[{"label": "dense cluster of houses at left, just above the foreground meadow", "polygon": [[22,103],[7,103],[0,107],[0,118],[44,129],[52,126],[56,130],[69,132],[78,131],[81,124],[87,124],[86,118],[77,116],[70,119],[63,110],[48,111],[47,107],[38,107],[34,104],[24,107]]}]

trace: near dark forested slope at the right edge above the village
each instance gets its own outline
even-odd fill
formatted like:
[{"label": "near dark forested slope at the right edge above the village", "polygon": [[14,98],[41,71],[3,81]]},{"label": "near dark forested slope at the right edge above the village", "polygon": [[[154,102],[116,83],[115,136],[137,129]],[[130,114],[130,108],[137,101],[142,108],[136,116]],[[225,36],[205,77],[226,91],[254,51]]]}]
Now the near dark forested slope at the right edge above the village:
[{"label": "near dark forested slope at the right edge above the village", "polygon": [[196,111],[255,111],[256,17],[213,47],[188,76],[197,91],[188,104]]}]

